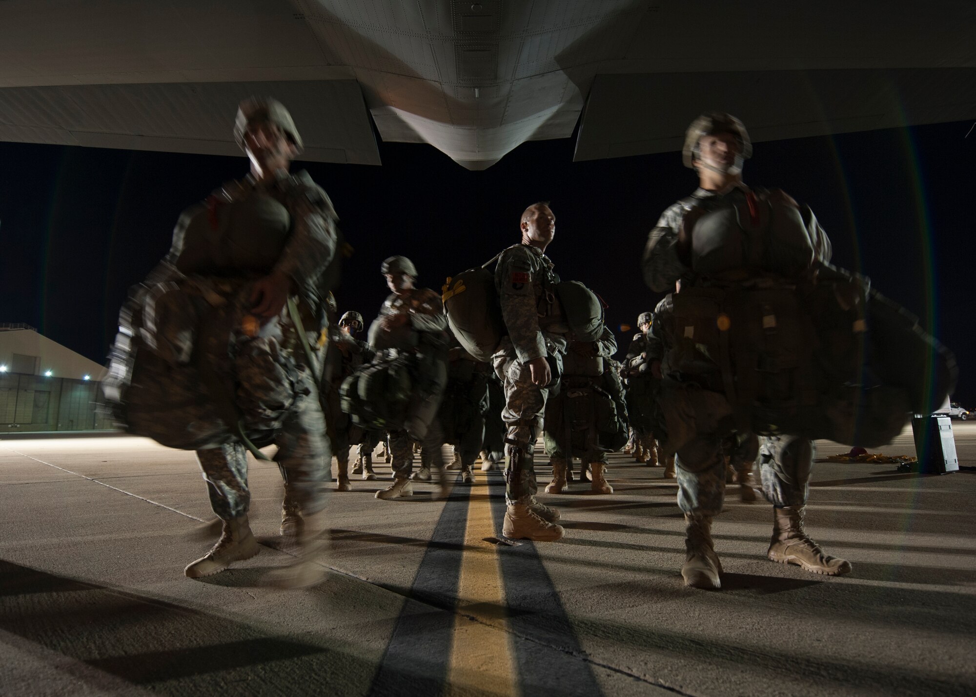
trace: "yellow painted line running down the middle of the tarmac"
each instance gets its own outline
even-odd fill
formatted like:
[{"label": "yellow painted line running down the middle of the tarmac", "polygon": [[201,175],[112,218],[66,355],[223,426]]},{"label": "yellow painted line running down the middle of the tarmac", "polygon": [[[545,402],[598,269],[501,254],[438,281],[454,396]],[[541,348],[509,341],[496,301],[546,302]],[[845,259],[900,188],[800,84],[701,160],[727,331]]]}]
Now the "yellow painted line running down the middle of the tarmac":
[{"label": "yellow painted line running down the middle of the tarmac", "polygon": [[478,472],[468,503],[458,614],[448,667],[447,694],[452,697],[519,694],[498,551],[484,541],[495,534],[494,530],[488,483]]}]

